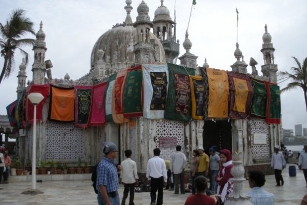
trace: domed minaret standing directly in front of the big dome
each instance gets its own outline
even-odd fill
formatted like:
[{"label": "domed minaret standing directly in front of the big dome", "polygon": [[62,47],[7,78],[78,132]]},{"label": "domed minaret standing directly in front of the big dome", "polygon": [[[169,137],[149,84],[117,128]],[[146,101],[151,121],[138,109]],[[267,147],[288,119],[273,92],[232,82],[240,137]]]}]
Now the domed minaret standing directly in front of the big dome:
[{"label": "domed minaret standing directly in front of the big dome", "polygon": [[154,58],[155,42],[150,41],[150,29],[153,24],[148,15],[149,8],[144,1],[138,6],[138,16],[133,24],[137,28],[137,43],[134,45],[135,61],[137,64],[150,64]]}]

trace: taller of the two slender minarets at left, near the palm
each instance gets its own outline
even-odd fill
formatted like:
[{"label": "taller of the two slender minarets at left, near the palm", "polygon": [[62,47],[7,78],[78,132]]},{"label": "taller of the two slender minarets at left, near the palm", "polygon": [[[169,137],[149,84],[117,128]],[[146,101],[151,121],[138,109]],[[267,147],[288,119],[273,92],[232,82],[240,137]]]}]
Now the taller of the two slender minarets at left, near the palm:
[{"label": "taller of the two slender minarets at left, near the palm", "polygon": [[46,35],[42,31],[42,22],[40,22],[39,31],[36,33],[36,40],[33,46],[34,63],[32,65],[33,83],[39,85],[45,83],[45,54],[47,51],[45,37]]}]

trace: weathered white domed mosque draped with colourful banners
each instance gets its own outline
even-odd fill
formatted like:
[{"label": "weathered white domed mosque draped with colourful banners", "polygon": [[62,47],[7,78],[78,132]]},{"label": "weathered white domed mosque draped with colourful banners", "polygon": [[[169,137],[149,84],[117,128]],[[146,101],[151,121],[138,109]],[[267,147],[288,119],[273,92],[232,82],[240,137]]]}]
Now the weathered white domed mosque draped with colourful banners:
[{"label": "weathered white domed mosque draped with colourful banners", "polygon": [[[76,166],[81,159],[95,165],[103,155],[102,143],[113,141],[119,148],[117,161],[124,159],[124,150],[132,150],[140,173],[146,172],[154,148],[159,147],[161,157],[169,159],[177,145],[188,158],[198,146],[207,152],[216,145],[217,150],[242,153],[246,169],[270,170],[268,162],[274,145],[279,144],[281,125],[278,69],[267,26],[262,36],[262,76],[252,58],[253,72],[247,73],[238,43],[232,71],[209,68],[206,60],[197,67],[198,56],[191,53],[188,32],[185,52],[180,55],[176,22],[163,0],[152,21],[144,1],[137,8],[135,22],[130,17],[131,0],[125,3],[124,22],[98,38],[89,73],[77,80],[70,80],[68,74],[64,79],[52,78],[40,23],[32,81],[26,85],[26,65],[21,63],[18,97],[8,106],[11,125],[18,130],[16,152],[23,162],[32,156],[33,105],[27,95],[40,92],[45,98],[37,106],[37,164],[55,160]],[[177,58],[180,65],[173,64]],[[128,83],[131,87],[126,88]],[[244,105],[238,103],[239,98],[244,98]],[[276,108],[277,113],[271,115],[269,108]]]}]

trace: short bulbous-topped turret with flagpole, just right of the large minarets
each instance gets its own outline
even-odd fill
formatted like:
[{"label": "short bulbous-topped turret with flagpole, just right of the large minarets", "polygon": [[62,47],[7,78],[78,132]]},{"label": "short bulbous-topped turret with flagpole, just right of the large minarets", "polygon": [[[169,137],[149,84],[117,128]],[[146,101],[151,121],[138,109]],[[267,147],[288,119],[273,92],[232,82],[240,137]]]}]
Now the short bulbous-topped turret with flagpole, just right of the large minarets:
[{"label": "short bulbous-topped turret with flagpole, just right of the large minarets", "polygon": [[192,48],[192,42],[189,39],[188,31],[186,31],[186,37],[185,37],[185,40],[183,42],[183,47],[186,50],[186,52],[185,52],[185,54],[183,54],[182,56],[179,57],[181,65],[189,67],[189,68],[196,69],[196,66],[197,66],[196,60],[197,60],[198,56],[190,53],[190,49]]}]

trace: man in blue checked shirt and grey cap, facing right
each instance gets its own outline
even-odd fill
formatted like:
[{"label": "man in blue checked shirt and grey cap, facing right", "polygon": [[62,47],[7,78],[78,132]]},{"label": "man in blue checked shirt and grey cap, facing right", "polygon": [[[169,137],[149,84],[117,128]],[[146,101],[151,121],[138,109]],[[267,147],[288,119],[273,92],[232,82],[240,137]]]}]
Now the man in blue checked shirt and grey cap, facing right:
[{"label": "man in blue checked shirt and grey cap, facing right", "polygon": [[118,155],[118,149],[113,142],[105,142],[102,151],[105,156],[97,167],[96,188],[98,190],[98,204],[119,205],[117,173],[121,168],[114,163],[114,159]]}]

